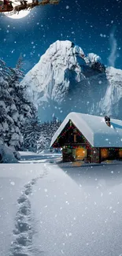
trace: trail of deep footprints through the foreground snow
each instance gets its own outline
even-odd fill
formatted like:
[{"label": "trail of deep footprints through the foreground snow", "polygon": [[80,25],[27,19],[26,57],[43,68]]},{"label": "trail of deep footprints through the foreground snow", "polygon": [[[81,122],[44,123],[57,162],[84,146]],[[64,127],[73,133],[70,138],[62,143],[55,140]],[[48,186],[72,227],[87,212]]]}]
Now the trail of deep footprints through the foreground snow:
[{"label": "trail of deep footprints through the foreground snow", "polygon": [[13,230],[13,242],[11,243],[10,256],[35,255],[35,250],[34,248],[32,249],[32,237],[35,230],[33,227],[33,217],[29,196],[32,193],[33,185],[35,185],[39,179],[43,178],[43,176],[32,179],[28,184],[26,184],[24,186],[24,191],[21,192],[20,198],[17,200],[18,211],[15,218],[15,228]]}]

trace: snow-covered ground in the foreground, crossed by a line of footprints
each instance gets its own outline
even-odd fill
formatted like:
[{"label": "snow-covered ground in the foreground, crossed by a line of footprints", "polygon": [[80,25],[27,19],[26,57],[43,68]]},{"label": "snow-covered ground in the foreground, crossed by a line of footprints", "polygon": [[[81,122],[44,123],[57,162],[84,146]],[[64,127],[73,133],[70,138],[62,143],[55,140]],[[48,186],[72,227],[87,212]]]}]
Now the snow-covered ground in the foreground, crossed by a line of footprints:
[{"label": "snow-covered ground in the foreground, crossed by a line of footprints", "polygon": [[60,157],[0,165],[0,255],[121,256],[122,163]]}]

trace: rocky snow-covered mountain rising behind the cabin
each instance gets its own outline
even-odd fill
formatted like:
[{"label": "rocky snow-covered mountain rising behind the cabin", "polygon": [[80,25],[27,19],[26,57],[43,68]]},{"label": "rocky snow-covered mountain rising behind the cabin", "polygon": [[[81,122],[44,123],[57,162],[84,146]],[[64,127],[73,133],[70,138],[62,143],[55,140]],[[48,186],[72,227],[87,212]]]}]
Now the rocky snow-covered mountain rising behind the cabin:
[{"label": "rocky snow-covered mountain rising behind the cabin", "polygon": [[21,83],[42,121],[71,111],[122,117],[122,70],[105,68],[99,56],[70,41],[50,45]]}]

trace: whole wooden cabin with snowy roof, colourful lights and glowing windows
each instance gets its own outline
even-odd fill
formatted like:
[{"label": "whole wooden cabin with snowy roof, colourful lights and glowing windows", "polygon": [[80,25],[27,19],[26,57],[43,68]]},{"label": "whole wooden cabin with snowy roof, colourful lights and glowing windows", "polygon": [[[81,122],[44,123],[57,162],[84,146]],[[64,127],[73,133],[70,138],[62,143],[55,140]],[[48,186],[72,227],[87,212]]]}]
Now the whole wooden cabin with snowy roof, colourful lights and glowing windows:
[{"label": "whole wooden cabin with snowy roof, colourful lights and glowing windows", "polygon": [[50,147],[62,148],[63,161],[96,162],[122,159],[122,121],[69,113]]}]

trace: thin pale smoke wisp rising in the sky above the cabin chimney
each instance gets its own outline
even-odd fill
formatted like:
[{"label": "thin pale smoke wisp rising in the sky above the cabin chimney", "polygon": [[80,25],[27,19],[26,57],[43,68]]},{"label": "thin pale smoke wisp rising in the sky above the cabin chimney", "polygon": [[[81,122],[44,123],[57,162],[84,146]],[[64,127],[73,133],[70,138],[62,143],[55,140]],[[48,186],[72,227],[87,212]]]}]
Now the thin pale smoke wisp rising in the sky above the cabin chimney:
[{"label": "thin pale smoke wisp rising in the sky above the cabin chimney", "polygon": [[109,66],[115,66],[116,58],[117,58],[117,42],[115,38],[115,28],[113,29],[113,32],[109,35],[109,43],[110,43],[110,54],[109,54]]}]

